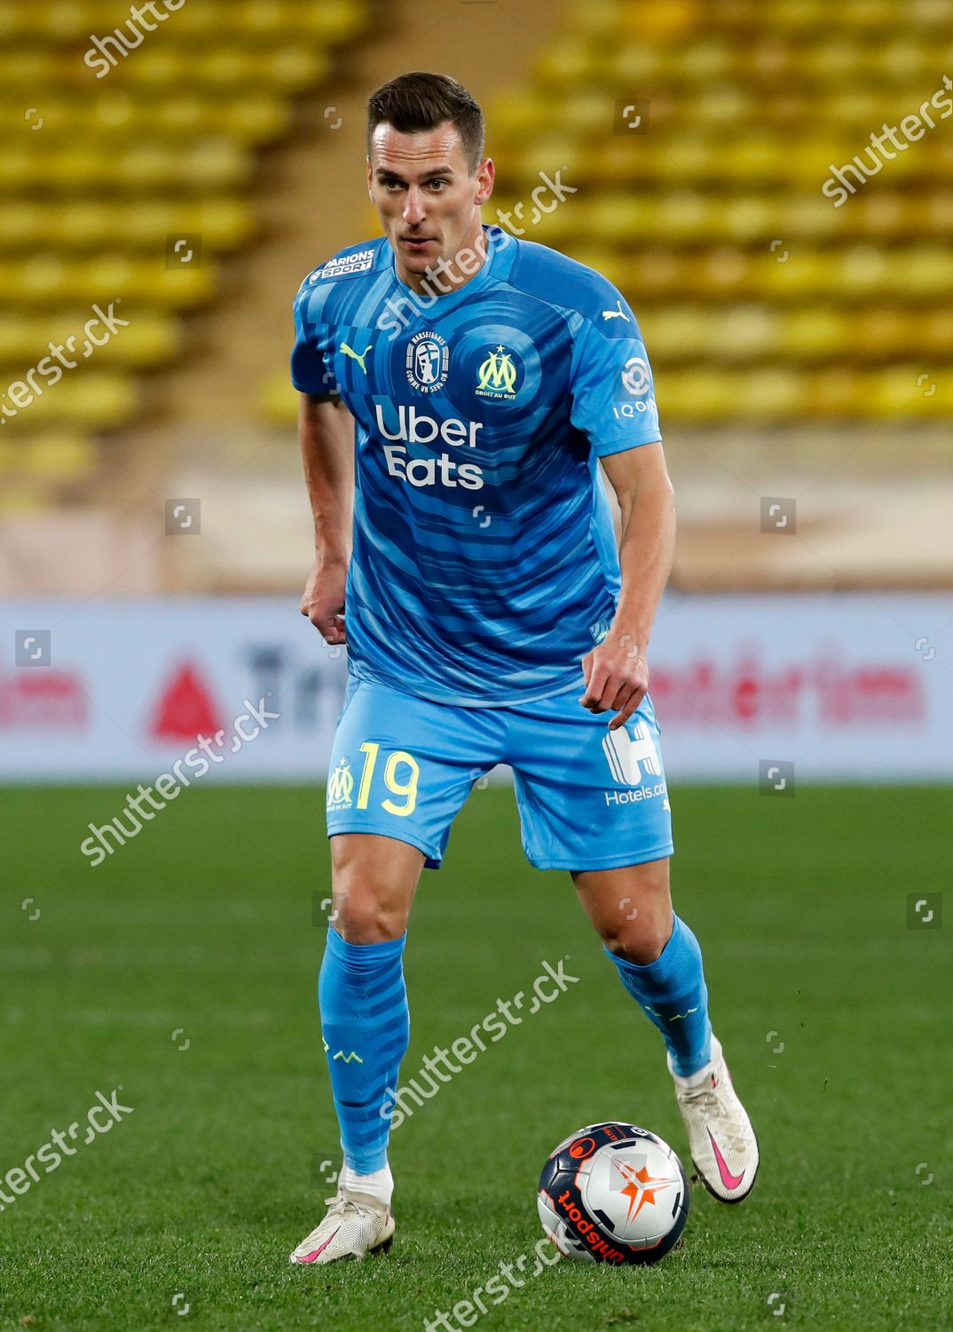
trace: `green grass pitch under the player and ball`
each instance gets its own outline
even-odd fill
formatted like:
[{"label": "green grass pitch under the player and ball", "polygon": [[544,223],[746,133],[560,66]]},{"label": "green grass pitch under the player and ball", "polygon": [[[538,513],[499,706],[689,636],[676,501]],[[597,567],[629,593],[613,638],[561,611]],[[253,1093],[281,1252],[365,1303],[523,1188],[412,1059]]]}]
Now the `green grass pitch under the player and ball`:
[{"label": "green grass pitch under the player and ball", "polygon": [[[530,868],[512,795],[490,787],[414,907],[405,1078],[543,962],[568,958],[580,982],[395,1132],[390,1255],[289,1267],[333,1192],[318,1163],[338,1159],[314,998],[318,793],[190,790],[98,868],[79,843],[120,790],[0,801],[0,1176],[85,1122],[97,1091],[133,1110],[0,1212],[3,1332],[423,1329],[531,1253],[539,1169],[572,1130],[632,1119],[689,1168],[658,1034],[568,875]],[[949,888],[949,802],[675,791],[676,908],[760,1138],[757,1187],[725,1207],[693,1184],[660,1265],[559,1263],[478,1327],[953,1325],[953,919],[908,923],[910,892]]]}]

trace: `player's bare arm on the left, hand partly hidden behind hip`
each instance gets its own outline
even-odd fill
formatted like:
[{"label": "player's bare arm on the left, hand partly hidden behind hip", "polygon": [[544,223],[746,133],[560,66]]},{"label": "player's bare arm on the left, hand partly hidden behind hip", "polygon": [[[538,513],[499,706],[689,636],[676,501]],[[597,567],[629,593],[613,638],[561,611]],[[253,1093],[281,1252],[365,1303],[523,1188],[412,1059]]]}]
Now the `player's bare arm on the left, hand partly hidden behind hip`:
[{"label": "player's bare arm on the left, hand partly hidden behind hip", "polygon": [[301,394],[298,438],[314,517],[314,565],[301,614],[329,643],[345,643],[345,582],[354,506],[354,417],[337,397]]}]

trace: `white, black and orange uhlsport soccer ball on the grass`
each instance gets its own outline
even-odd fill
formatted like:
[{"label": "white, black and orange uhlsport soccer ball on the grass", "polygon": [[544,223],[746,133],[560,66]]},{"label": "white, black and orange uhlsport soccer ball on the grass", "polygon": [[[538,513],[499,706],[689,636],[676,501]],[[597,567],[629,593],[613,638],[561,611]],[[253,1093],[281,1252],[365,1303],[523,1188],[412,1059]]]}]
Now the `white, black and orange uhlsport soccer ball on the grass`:
[{"label": "white, black and orange uhlsport soccer ball on the grass", "polygon": [[564,1257],[658,1263],[688,1219],[688,1180],[668,1143],[635,1124],[590,1124],[539,1176],[543,1229]]}]

